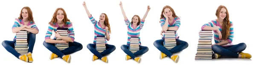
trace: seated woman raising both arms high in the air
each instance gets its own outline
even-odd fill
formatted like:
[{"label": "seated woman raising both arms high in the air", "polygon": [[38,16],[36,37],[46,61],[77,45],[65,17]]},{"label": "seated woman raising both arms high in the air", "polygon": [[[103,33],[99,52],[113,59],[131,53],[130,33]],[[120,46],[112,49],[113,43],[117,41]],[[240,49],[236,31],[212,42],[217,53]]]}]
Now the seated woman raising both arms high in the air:
[{"label": "seated woman raising both arms high in the air", "polygon": [[[148,47],[146,46],[141,46],[141,42],[140,42],[140,30],[142,29],[144,22],[145,22],[145,18],[148,15],[148,11],[150,10],[150,7],[147,7],[147,12],[145,13],[145,15],[143,16],[143,18],[140,20],[140,16],[138,15],[134,15],[132,17],[131,22],[127,19],[126,15],[125,15],[125,11],[122,7],[122,2],[120,2],[120,8],[122,10],[122,14],[125,18],[125,24],[127,25],[127,29],[128,29],[128,41],[126,45],[122,45],[121,49],[128,55],[126,55],[125,59],[129,60],[129,59],[134,59],[136,62],[140,63],[141,58],[138,57],[142,54],[145,54],[148,51]],[[135,36],[135,37],[139,37],[139,48],[140,50],[135,52],[134,54],[129,50],[129,45],[130,45],[130,38],[131,36]]]}]

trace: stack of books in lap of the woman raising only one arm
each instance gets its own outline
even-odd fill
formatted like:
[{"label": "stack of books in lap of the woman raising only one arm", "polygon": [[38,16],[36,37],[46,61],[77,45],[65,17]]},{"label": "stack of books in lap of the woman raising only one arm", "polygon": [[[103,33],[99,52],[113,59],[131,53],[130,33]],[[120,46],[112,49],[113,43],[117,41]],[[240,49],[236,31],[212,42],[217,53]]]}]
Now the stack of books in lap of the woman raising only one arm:
[{"label": "stack of books in lap of the woman raising only one arm", "polygon": [[106,50],[105,35],[97,35],[96,37],[96,50],[102,53]]}]

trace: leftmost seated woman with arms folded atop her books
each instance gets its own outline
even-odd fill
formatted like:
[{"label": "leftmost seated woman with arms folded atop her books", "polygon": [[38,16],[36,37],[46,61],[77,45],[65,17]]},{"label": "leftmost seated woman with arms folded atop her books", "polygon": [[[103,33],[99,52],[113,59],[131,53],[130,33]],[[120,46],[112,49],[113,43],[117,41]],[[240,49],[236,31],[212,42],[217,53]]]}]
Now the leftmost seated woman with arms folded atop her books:
[{"label": "leftmost seated woman with arms folded atop her books", "polygon": [[12,26],[12,33],[20,32],[20,30],[26,30],[28,32],[28,54],[21,55],[14,49],[16,43],[16,36],[13,39],[13,41],[3,41],[2,45],[7,51],[12,53],[15,57],[19,58],[20,60],[26,62],[33,62],[32,51],[35,44],[35,35],[38,34],[38,27],[35,25],[32,11],[29,7],[23,7],[21,9],[19,18],[15,19],[15,22]]}]

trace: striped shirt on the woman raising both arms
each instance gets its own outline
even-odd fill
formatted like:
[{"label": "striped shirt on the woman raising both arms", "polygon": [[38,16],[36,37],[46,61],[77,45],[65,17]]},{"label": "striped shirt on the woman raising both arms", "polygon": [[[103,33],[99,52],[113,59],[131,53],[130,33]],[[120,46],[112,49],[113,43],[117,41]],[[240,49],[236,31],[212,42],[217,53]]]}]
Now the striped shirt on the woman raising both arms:
[{"label": "striped shirt on the woman raising both arms", "polygon": [[141,42],[140,42],[140,30],[143,28],[144,22],[145,22],[145,20],[141,20],[140,24],[137,27],[134,27],[133,24],[131,24],[131,22],[128,19],[125,20],[125,24],[127,25],[127,29],[128,29],[128,32],[127,32],[127,34],[128,34],[127,45],[130,44],[131,36],[139,37],[139,44],[141,45]]}]

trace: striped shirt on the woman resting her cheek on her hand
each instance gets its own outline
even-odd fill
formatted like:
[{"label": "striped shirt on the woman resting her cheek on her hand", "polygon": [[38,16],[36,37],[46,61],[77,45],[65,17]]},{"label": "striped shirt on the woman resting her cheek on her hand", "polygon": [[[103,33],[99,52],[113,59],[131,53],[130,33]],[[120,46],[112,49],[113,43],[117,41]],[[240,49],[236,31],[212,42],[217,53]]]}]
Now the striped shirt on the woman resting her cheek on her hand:
[{"label": "striped shirt on the woman resting her cheek on her hand", "polygon": [[[166,18],[160,19],[161,27],[163,27],[165,22],[166,22]],[[176,18],[173,19],[172,23],[170,23],[170,22],[168,22],[168,23],[169,23],[168,27],[177,27],[179,29],[179,27],[180,27],[180,18],[176,17]],[[164,38],[164,35],[163,35],[162,38]],[[176,39],[179,38],[177,31],[175,31],[175,38]]]}]

